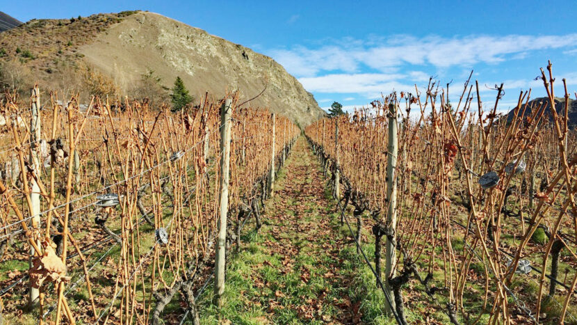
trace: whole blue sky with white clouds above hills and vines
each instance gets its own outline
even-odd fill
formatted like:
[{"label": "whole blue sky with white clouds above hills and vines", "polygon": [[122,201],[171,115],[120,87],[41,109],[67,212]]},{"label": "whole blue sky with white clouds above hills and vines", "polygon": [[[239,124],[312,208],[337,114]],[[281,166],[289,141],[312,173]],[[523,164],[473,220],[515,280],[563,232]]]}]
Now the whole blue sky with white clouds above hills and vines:
[{"label": "whole blue sky with white clouds above hills and vines", "polygon": [[414,84],[423,90],[430,76],[452,81],[456,95],[474,70],[487,104],[496,95],[490,88],[505,83],[501,109],[507,109],[520,90],[545,94],[534,79],[548,59],[558,84],[566,77],[577,90],[575,1],[0,2],[0,10],[22,21],[160,13],[272,56],[324,108],[335,100],[361,106]]}]

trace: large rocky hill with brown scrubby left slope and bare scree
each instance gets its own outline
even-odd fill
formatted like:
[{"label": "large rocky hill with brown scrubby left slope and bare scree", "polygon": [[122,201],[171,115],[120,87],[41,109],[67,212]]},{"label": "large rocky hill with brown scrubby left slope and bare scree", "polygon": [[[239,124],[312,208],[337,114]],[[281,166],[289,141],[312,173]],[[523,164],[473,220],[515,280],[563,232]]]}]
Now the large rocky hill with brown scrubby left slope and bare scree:
[{"label": "large rocky hill with brown scrubby left slope and bare scree", "polygon": [[33,19],[0,33],[0,51],[0,81],[18,70],[23,80],[65,93],[136,95],[143,79],[165,91],[181,77],[197,100],[206,91],[218,98],[233,90],[247,100],[266,86],[253,106],[268,106],[302,126],[325,115],[272,58],[156,13]]}]

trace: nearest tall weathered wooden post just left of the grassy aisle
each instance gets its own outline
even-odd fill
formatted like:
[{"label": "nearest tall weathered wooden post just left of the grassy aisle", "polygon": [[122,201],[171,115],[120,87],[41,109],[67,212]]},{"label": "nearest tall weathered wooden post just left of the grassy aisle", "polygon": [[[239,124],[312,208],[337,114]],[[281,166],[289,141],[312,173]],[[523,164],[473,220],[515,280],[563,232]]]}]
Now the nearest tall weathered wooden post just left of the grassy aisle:
[{"label": "nearest tall weathered wooden post just left of the grassy aisle", "polygon": [[218,221],[218,243],[214,267],[214,293],[216,304],[222,306],[222,294],[225,293],[225,257],[227,244],[227,214],[229,210],[229,169],[231,100],[225,100],[220,109],[220,218]]}]

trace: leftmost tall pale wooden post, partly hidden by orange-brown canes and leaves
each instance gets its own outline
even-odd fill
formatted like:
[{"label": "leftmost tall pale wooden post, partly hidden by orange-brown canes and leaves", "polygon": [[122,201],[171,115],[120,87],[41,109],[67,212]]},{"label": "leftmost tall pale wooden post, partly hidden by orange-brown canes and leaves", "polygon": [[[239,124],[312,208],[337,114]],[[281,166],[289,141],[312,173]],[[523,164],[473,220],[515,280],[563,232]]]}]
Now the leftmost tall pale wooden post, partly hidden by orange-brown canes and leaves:
[{"label": "leftmost tall pale wooden post, partly hidden by orange-brown canes and leaves", "polygon": [[[32,89],[32,116],[30,119],[30,161],[33,173],[40,177],[40,90],[38,86]],[[23,171],[24,172],[24,171]],[[32,228],[38,230],[40,227],[40,187],[38,183],[31,177],[31,193],[30,199],[32,201],[32,209],[30,214],[32,218]],[[37,246],[40,248],[40,240],[37,241]],[[42,252],[39,252],[42,253]],[[35,256],[34,247],[30,248],[30,267],[32,267],[32,257]],[[31,307],[38,306],[40,290],[32,287],[32,280],[30,280],[29,303]]]}]

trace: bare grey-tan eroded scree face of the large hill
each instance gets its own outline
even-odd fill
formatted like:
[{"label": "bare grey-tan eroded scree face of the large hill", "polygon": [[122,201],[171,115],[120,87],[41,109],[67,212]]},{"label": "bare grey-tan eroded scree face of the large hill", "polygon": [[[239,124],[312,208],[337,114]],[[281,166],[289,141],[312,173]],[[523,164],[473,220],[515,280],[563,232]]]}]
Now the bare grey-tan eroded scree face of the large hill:
[{"label": "bare grey-tan eroded scree face of the large hill", "polygon": [[200,98],[240,90],[241,101],[264,93],[252,106],[268,106],[302,126],[325,115],[313,95],[272,58],[174,19],[139,12],[125,17],[79,47],[83,61],[128,91],[148,70],[172,86],[184,80]]}]

